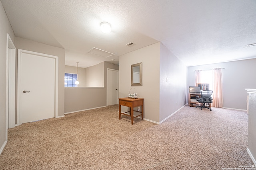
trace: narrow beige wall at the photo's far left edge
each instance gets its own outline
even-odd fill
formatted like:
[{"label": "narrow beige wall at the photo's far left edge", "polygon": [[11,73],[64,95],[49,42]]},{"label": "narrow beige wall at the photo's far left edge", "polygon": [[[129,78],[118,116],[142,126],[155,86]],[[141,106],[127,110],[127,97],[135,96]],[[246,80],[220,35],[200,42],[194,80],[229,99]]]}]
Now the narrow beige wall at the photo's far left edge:
[{"label": "narrow beige wall at the photo's far left edge", "polygon": [[7,33],[15,44],[14,32],[0,2],[0,152],[6,141],[6,43]]}]

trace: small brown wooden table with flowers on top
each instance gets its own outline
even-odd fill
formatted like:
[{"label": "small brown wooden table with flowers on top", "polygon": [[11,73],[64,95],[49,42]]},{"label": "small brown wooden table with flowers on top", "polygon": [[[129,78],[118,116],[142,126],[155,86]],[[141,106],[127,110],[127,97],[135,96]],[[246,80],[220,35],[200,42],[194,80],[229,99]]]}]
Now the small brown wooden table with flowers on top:
[{"label": "small brown wooden table with flowers on top", "polygon": [[[138,116],[141,115],[141,119],[143,119],[143,103],[144,103],[144,99],[143,98],[137,98],[137,99],[133,99],[133,98],[119,98],[119,120],[121,119],[121,115],[122,114],[123,115],[127,115],[127,114],[125,114],[127,112],[130,112],[130,115],[127,115],[127,116],[131,117],[132,125],[133,125],[133,119],[135,117],[138,117]],[[126,111],[125,113],[121,113],[121,106],[130,107],[130,111]],[[133,108],[137,107],[137,106],[141,106],[141,112],[133,110]],[[134,117],[133,116],[133,111],[140,112],[141,114]]]}]

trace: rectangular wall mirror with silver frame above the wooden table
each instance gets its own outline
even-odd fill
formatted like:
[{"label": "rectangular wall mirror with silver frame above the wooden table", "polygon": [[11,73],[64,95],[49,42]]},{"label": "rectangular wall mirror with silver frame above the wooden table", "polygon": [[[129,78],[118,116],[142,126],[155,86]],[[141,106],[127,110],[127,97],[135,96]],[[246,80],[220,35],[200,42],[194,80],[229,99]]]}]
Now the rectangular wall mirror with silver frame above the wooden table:
[{"label": "rectangular wall mirror with silver frame above the wooden table", "polygon": [[142,86],[142,63],[132,64],[132,86]]}]

